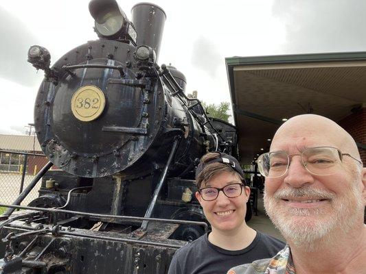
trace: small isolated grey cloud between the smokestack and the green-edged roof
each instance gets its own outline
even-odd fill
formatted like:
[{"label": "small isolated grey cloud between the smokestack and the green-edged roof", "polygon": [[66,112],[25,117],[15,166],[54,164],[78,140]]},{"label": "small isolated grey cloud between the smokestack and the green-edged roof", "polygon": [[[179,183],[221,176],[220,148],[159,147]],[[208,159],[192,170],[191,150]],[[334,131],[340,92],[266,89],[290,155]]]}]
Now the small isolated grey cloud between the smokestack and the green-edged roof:
[{"label": "small isolated grey cloud between the smokestack and the green-edged roof", "polygon": [[216,77],[217,69],[223,58],[211,40],[199,36],[192,48],[192,65],[205,71],[210,77]]}]

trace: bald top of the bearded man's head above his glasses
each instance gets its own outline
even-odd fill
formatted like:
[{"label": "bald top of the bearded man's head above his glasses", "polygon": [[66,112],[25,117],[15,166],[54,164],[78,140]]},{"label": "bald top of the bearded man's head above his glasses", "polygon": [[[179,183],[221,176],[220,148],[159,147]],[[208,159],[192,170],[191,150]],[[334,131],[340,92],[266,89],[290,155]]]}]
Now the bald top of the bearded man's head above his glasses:
[{"label": "bald top of the bearded man's head above his glasses", "polygon": [[[342,127],[334,121],[315,114],[295,116],[286,121],[275,133],[271,143],[271,151],[277,150],[279,144],[286,141],[300,145],[309,141],[314,146],[332,146],[360,158],[356,142]],[[297,142],[297,143],[296,143]]]}]

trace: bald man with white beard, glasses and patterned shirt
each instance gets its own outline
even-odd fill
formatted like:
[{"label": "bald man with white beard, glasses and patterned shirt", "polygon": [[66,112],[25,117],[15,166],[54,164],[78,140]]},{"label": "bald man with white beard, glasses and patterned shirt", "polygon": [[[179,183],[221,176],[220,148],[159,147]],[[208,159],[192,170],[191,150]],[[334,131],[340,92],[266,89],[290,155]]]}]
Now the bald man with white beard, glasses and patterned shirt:
[{"label": "bald man with white beard, glasses and patterned shirt", "polygon": [[264,207],[288,245],[228,274],[366,273],[366,169],[350,134],[323,116],[295,116],[258,169]]}]

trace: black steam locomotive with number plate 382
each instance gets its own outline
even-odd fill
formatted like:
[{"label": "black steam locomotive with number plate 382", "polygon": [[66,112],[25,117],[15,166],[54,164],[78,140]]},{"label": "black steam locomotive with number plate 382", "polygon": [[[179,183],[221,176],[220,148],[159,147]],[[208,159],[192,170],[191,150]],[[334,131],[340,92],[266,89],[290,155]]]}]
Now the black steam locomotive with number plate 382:
[{"label": "black steam locomotive with number plate 382", "polygon": [[[0,217],[1,273],[166,273],[175,250],[207,232],[192,195],[198,159],[237,156],[236,128],[157,64],[159,6],[135,5],[132,21],[115,0],[89,11],[98,40],[52,67],[47,49],[28,52],[45,71],[34,123],[50,162]],[[39,197],[19,206],[41,177]]]}]

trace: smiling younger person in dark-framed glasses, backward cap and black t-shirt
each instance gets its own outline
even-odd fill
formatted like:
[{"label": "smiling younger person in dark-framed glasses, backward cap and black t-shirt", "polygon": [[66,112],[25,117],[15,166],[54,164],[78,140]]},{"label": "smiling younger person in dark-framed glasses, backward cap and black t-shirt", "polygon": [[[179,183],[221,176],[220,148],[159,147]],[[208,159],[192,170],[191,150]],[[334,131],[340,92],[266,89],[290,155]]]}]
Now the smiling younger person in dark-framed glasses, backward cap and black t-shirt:
[{"label": "smiling younger person in dark-framed glasses, backward cap and black t-shirt", "polygon": [[196,198],[212,231],[176,251],[168,274],[226,273],[242,262],[270,258],[284,247],[245,223],[250,188],[235,158],[207,153],[197,167],[196,184]]}]

